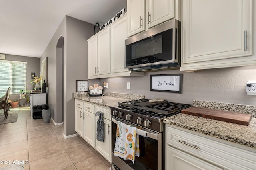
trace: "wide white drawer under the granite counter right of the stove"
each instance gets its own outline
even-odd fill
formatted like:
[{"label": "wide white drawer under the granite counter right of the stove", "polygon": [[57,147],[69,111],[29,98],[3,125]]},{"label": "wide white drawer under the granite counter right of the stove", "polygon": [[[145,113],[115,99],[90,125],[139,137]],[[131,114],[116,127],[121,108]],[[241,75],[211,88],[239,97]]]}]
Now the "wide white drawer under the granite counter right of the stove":
[{"label": "wide white drawer under the granite counter right of the stove", "polygon": [[256,153],[166,125],[166,143],[217,166],[255,169]]}]

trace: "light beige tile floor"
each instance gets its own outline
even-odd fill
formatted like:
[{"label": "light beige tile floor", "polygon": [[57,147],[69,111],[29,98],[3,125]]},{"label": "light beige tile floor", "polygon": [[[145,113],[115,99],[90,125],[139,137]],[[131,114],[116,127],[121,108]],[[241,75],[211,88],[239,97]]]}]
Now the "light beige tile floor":
[{"label": "light beige tile floor", "polygon": [[17,122],[0,125],[0,169],[6,161],[23,160],[25,170],[109,170],[110,163],[81,137],[65,139],[63,132],[64,125],[34,120],[29,107],[20,107]]}]

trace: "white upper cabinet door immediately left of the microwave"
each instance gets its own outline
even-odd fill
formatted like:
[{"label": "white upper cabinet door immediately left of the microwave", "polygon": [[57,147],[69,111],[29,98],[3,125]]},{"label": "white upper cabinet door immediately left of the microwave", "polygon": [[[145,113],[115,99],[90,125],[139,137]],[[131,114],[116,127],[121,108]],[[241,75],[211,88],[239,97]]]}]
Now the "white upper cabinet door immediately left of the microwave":
[{"label": "white upper cabinet door immediately left of the microwave", "polygon": [[125,59],[125,45],[126,39],[126,18],[112,23],[110,27],[111,37],[111,72],[127,72],[128,69],[124,69]]}]

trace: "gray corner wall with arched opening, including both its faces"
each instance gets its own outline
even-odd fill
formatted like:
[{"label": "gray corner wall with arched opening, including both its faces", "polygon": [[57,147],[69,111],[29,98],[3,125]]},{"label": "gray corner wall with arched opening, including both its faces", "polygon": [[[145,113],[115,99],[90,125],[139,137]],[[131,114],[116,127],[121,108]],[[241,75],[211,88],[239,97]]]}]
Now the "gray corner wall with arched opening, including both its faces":
[{"label": "gray corner wall with arched opening, including both its faces", "polygon": [[[72,135],[75,132],[75,108],[73,93],[76,92],[76,80],[88,80],[87,73],[87,39],[93,35],[94,25],[75,18],[66,16],[50,43],[45,49],[41,61],[48,57],[48,104],[52,109],[52,118],[56,123],[62,117],[62,113],[58,113],[57,103],[62,100],[62,95],[57,95],[58,87],[56,80],[60,75],[60,70],[57,70],[56,45],[59,37],[64,37],[64,134]],[[92,80],[92,83],[98,83],[99,80]],[[58,104],[59,106],[59,104]]]}]

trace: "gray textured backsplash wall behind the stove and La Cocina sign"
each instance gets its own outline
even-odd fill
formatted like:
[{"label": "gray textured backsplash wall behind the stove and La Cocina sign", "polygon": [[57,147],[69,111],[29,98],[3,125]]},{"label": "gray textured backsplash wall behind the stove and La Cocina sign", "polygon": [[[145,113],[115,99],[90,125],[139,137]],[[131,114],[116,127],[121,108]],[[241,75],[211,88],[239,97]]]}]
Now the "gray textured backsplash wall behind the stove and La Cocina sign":
[{"label": "gray textured backsplash wall behind the stove and La Cocina sign", "polygon": [[[195,73],[168,70],[145,73],[144,77],[102,78],[106,92],[142,94],[145,98],[163,98],[171,102],[193,104],[193,100],[256,105],[256,96],[246,94],[247,80],[256,80],[255,66],[198,70]],[[183,74],[182,94],[150,91],[151,74]],[[130,82],[130,90],[126,89]]]}]

